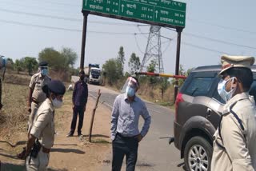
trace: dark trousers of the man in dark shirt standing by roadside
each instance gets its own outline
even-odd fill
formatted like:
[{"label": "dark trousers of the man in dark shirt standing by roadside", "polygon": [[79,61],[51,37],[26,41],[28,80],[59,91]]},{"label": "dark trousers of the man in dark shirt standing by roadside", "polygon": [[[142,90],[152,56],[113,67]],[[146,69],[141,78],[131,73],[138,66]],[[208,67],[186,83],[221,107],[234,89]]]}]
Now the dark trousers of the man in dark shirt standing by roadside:
[{"label": "dark trousers of the man in dark shirt standing by roadside", "polygon": [[85,111],[84,111],[83,106],[74,105],[73,118],[72,118],[72,122],[71,122],[70,132],[74,133],[75,126],[77,124],[77,118],[79,116],[78,134],[81,133],[84,113],[85,113]]}]

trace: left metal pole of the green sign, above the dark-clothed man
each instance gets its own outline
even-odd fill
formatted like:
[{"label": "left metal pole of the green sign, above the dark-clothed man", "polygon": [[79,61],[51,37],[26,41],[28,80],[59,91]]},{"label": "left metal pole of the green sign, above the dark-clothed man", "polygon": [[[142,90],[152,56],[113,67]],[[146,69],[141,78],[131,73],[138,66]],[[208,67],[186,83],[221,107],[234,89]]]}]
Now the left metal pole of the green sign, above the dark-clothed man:
[{"label": "left metal pole of the green sign, above the dark-clothed man", "polygon": [[81,60],[80,70],[83,70],[85,63],[85,50],[86,50],[86,30],[87,30],[87,18],[89,11],[82,11],[83,14],[83,26],[82,26],[82,48],[81,48]]}]

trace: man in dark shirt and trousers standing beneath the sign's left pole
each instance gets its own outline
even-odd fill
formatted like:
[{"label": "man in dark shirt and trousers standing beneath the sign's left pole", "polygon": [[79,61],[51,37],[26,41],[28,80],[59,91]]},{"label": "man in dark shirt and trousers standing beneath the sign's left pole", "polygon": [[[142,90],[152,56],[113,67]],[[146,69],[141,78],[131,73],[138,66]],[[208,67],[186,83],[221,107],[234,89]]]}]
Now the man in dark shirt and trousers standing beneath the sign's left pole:
[{"label": "man in dark shirt and trousers standing beneath the sign's left pole", "polygon": [[79,78],[80,80],[74,84],[74,91],[72,96],[73,102],[73,118],[71,121],[70,126],[70,133],[66,135],[66,137],[72,137],[74,135],[74,130],[77,123],[77,118],[79,116],[78,121],[78,136],[82,135],[82,124],[83,124],[83,117],[86,111],[86,104],[88,99],[88,87],[85,82],[85,71],[80,70]]}]

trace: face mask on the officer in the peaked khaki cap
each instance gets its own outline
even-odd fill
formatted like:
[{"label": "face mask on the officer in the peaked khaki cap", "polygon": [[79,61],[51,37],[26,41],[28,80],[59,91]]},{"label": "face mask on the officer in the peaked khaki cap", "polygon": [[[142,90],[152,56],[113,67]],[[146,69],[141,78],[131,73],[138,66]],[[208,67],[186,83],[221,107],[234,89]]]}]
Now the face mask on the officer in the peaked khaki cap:
[{"label": "face mask on the officer in the peaked khaki cap", "polygon": [[229,101],[230,98],[233,97],[233,94],[236,89],[236,87],[234,87],[234,88],[231,88],[229,92],[226,91],[226,83],[229,82],[230,80],[231,82],[234,82],[234,78],[230,78],[228,80],[221,80],[218,83],[218,94],[220,95],[220,97],[222,97],[224,101]]}]

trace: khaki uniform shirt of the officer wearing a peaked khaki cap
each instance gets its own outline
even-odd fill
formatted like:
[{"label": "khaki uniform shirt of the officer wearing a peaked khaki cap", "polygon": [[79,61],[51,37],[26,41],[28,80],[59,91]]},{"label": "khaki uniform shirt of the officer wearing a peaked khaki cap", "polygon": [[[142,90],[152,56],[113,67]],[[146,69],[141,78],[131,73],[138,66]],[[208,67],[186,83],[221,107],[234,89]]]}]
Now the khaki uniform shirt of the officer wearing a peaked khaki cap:
[{"label": "khaki uniform shirt of the officer wearing a peaked khaki cap", "polygon": [[[238,115],[244,126],[242,131],[238,120],[230,113],[232,110]],[[212,171],[254,170],[256,169],[256,107],[248,93],[239,93],[224,105],[221,122],[221,137],[218,129],[214,133],[214,153],[211,161]],[[244,134],[246,138],[244,137]],[[225,149],[217,145],[216,141]]]}]

